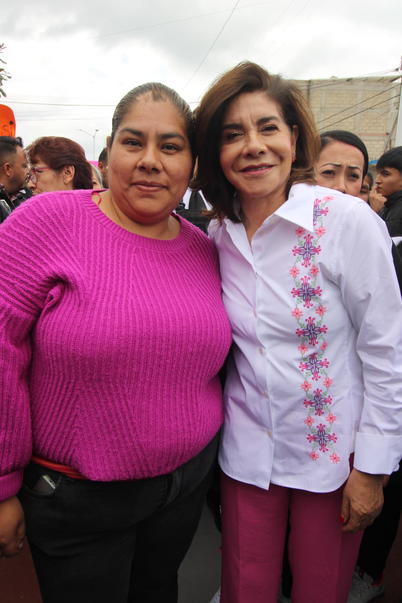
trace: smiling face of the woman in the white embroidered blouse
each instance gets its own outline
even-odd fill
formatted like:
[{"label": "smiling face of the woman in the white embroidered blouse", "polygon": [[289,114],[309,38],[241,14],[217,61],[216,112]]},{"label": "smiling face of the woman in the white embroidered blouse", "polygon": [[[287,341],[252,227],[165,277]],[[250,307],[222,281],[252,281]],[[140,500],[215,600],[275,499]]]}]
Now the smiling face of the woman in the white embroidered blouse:
[{"label": "smiling face of the woman in the white embroidered blouse", "polygon": [[265,92],[245,92],[231,101],[222,120],[219,158],[240,200],[284,196],[297,136],[297,126],[289,130]]}]

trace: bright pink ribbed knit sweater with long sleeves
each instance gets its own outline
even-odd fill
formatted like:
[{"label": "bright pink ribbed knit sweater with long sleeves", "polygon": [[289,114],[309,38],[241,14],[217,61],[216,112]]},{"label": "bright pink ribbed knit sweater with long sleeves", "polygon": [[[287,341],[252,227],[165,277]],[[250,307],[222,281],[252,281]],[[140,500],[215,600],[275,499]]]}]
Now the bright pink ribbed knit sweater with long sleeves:
[{"label": "bright pink ribbed knit sweater with long sleeves", "polygon": [[172,241],[134,235],[91,192],[39,195],[0,228],[0,500],[32,452],[93,480],[148,478],[222,424],[214,245],[183,219]]}]

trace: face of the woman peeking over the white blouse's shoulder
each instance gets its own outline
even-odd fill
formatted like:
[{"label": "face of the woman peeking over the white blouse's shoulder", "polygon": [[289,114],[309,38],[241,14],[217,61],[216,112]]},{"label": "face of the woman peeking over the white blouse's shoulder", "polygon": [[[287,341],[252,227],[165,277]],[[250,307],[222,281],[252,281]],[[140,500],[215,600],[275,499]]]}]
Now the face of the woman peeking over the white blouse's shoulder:
[{"label": "face of the woman peeking over the white blouse's shoulder", "polygon": [[319,186],[357,197],[362,188],[364,157],[345,142],[330,142],[319,154],[315,178]]}]

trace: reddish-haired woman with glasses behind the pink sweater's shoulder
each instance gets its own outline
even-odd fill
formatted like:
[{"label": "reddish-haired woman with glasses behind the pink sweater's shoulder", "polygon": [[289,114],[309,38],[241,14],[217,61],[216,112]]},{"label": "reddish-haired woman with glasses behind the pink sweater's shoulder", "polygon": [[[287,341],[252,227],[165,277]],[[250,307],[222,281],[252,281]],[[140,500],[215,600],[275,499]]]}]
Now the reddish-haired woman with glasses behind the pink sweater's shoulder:
[{"label": "reddish-haired woman with glasses behind the pink sweater's shoulder", "polygon": [[42,192],[92,189],[92,169],[84,149],[62,136],[42,136],[27,147],[30,173],[28,188]]}]

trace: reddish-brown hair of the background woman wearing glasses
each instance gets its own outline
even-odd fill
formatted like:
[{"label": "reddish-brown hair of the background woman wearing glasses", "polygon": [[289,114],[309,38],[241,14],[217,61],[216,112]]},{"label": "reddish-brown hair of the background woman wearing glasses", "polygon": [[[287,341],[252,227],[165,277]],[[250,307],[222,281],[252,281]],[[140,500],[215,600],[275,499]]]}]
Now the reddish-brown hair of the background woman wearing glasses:
[{"label": "reddish-brown hair of the background woman wearing glasses", "polygon": [[42,136],[27,147],[27,154],[31,164],[41,159],[49,168],[56,170],[64,165],[73,165],[73,188],[92,189],[92,169],[78,142],[63,136]]}]

